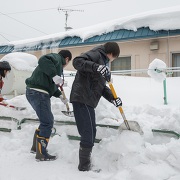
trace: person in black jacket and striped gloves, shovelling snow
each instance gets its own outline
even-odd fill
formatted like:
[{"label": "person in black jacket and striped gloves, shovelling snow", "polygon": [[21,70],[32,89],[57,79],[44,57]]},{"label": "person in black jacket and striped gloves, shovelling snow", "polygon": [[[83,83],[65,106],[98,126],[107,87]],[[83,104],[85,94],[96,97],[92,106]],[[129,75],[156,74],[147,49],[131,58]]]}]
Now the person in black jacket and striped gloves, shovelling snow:
[{"label": "person in black jacket and striped gloves, shovelling snow", "polygon": [[77,73],[72,85],[70,102],[73,105],[77,129],[81,136],[78,165],[80,171],[91,169],[90,157],[96,137],[94,109],[101,96],[116,107],[122,105],[121,99],[119,97],[114,99],[111,90],[106,86],[106,81],[110,81],[111,78],[108,63],[119,54],[118,44],[107,42],[73,60]]}]

